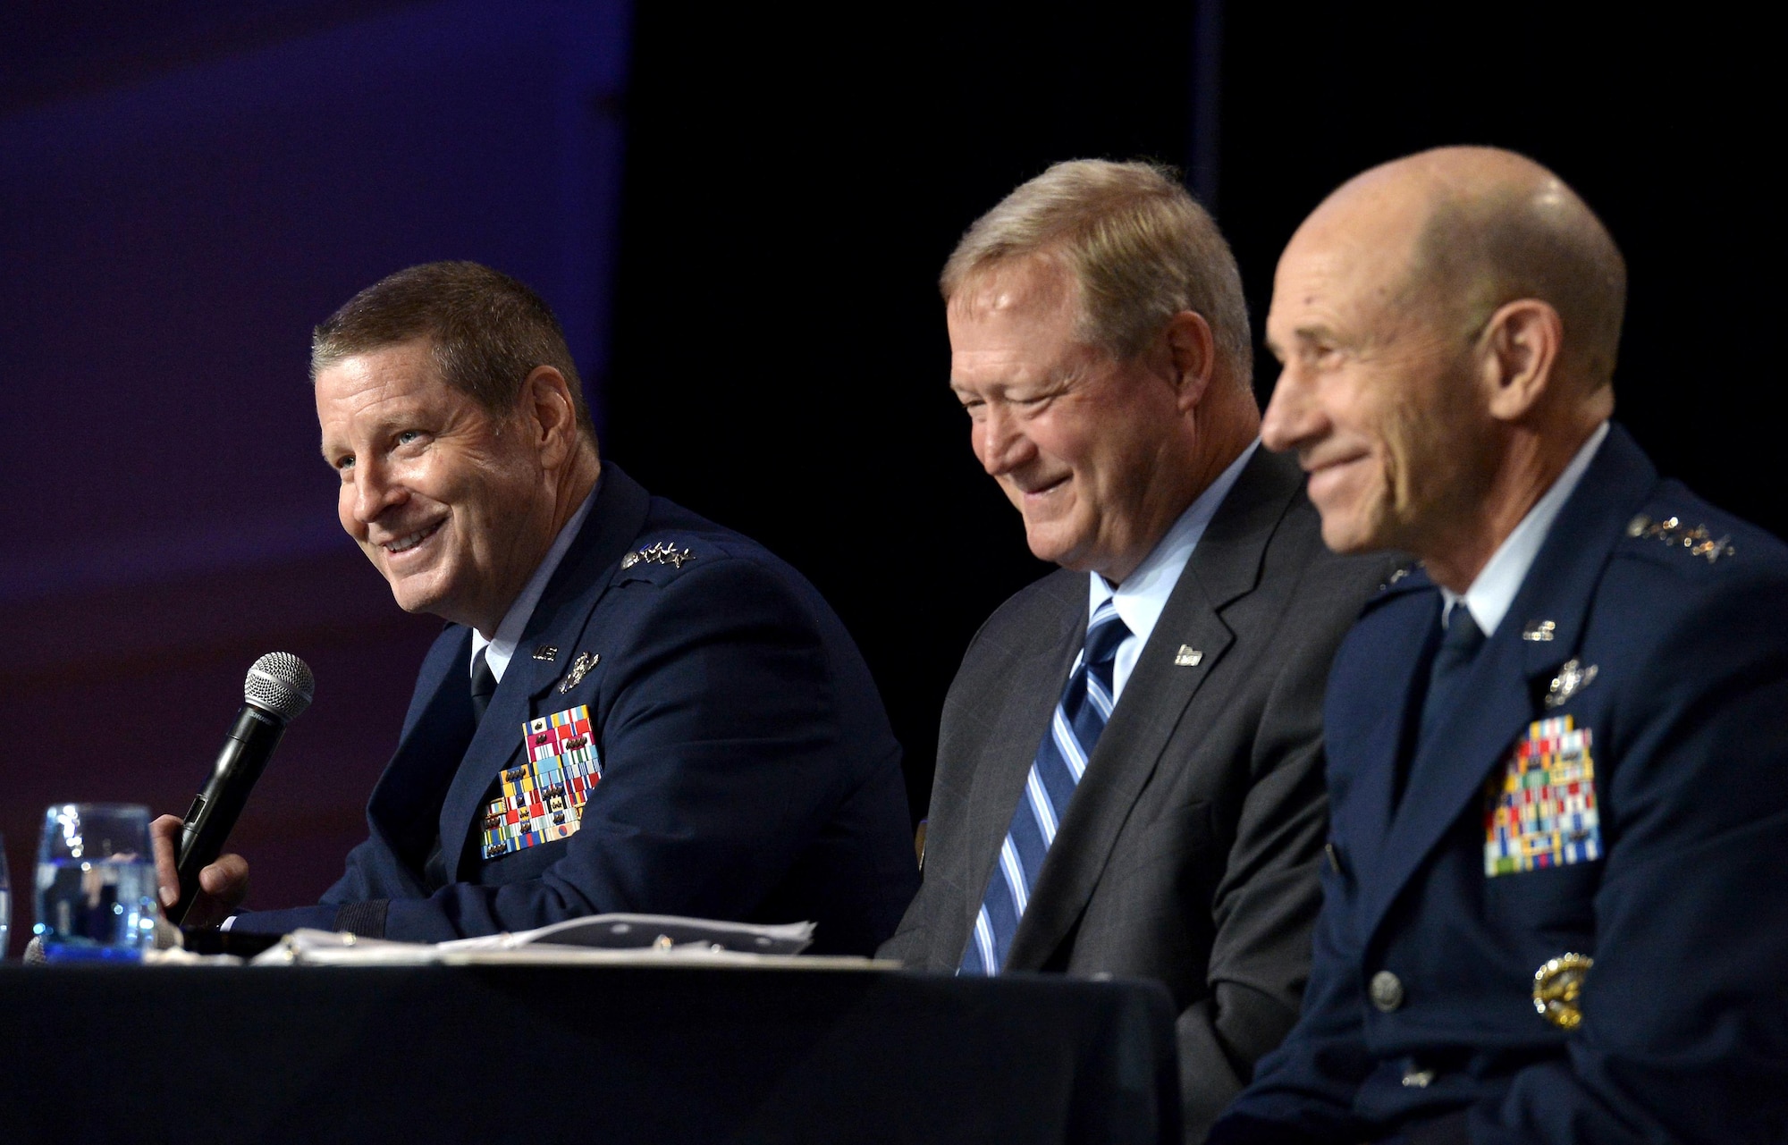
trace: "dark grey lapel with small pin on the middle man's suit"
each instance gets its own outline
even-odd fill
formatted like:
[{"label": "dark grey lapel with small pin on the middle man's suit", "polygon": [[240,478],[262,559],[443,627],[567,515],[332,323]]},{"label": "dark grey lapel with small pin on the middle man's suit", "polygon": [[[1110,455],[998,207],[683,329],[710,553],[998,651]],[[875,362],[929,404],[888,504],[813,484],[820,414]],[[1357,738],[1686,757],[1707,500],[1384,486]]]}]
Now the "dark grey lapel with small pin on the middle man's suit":
[{"label": "dark grey lapel with small pin on the middle man's suit", "polygon": [[[1080,918],[1105,873],[1118,832],[1153,776],[1168,741],[1184,721],[1198,689],[1234,644],[1236,633],[1223,623],[1219,610],[1259,583],[1268,540],[1298,485],[1295,465],[1264,449],[1257,451],[1205,528],[1143,646],[1110,723],[1100,734],[1067,814],[1062,816],[1012,937],[1007,968],[1035,970],[1048,963]],[[1080,608],[1080,628],[1085,632],[1085,601]],[[1180,644],[1203,653],[1196,666],[1175,664]],[[1053,705],[1055,696],[1050,698],[1051,710]],[[1042,728],[1046,721],[1048,714],[1032,726]],[[1005,812],[1008,823],[1016,803],[1014,791]]]}]

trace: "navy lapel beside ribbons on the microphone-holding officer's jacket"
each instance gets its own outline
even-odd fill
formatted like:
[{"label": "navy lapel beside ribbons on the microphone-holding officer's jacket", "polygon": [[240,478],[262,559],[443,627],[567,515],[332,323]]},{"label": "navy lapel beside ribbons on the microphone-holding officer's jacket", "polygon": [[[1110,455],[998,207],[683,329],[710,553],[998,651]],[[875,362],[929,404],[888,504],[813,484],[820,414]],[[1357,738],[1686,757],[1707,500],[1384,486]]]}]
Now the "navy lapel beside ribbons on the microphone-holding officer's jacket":
[{"label": "navy lapel beside ribbons on the microphone-holding officer's jacket", "polygon": [[[522,750],[522,726],[533,717],[535,703],[565,674],[570,657],[581,651],[574,648],[576,639],[583,635],[590,614],[613,581],[620,556],[645,526],[651,508],[645,490],[611,462],[603,463],[601,481],[595,505],[590,506],[583,530],[552,572],[540,603],[535,605],[515,646],[515,657],[504,669],[485,719],[465,748],[452,785],[440,803],[440,839],[447,852],[449,882],[460,878],[465,844],[485,791],[499,771],[513,766]],[[556,644],[558,657],[535,660],[533,649],[540,644]],[[461,664],[461,673],[465,671],[468,669]]]}]

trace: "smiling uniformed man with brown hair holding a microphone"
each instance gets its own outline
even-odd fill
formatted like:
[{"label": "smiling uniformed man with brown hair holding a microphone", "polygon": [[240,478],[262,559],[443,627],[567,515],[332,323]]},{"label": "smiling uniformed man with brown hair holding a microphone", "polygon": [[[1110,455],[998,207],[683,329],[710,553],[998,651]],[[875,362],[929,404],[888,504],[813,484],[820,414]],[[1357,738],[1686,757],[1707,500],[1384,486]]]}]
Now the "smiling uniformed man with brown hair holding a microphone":
[{"label": "smiling uniformed man with brown hair holding a microphone", "polygon": [[[316,329],[313,376],[342,526],[449,624],[347,873],[236,930],[440,941],[629,911],[812,920],[849,954],[892,932],[917,871],[856,646],[794,569],[597,458],[533,292],[399,272]],[[245,878],[207,868],[197,920]]]}]

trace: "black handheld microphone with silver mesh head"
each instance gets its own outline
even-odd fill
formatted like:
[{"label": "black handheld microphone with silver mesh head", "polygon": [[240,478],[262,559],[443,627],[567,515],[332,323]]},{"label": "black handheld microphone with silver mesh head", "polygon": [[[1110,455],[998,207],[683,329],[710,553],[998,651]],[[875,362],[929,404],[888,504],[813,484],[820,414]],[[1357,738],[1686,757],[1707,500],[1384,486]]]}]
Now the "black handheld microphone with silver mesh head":
[{"label": "black handheld microphone with silver mesh head", "polygon": [[218,751],[216,768],[206,780],[206,789],[193,800],[181,825],[181,902],[168,907],[168,921],[179,925],[198,895],[198,871],[216,862],[224,852],[249,791],[254,789],[266,760],[274,757],[286,725],[311,707],[316,680],[309,666],[288,651],[270,651],[249,669],[241,685],[243,705],[236,725]]}]

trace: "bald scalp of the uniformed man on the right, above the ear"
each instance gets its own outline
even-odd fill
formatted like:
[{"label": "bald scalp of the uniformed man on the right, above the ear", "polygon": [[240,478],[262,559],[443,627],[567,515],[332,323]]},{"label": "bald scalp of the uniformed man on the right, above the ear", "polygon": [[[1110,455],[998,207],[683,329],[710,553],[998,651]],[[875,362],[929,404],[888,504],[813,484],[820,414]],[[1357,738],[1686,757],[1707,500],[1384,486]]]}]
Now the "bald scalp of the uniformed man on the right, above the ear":
[{"label": "bald scalp of the uniformed man on the right, above the ear", "polygon": [[1375,166],[1305,222],[1336,225],[1364,227],[1405,259],[1391,304],[1473,331],[1498,306],[1538,299],[1564,327],[1557,381],[1579,390],[1613,381],[1627,263],[1595,211],[1532,159],[1441,147]]}]

